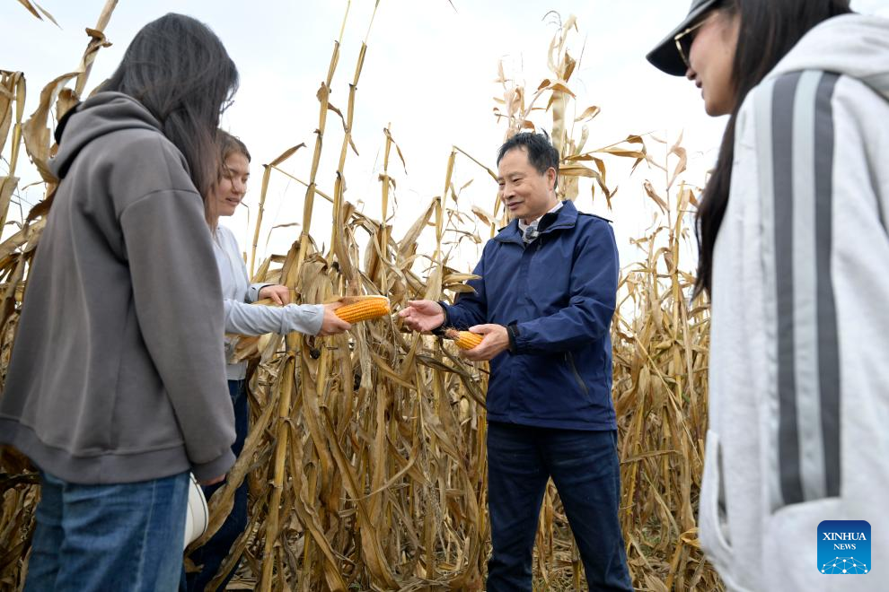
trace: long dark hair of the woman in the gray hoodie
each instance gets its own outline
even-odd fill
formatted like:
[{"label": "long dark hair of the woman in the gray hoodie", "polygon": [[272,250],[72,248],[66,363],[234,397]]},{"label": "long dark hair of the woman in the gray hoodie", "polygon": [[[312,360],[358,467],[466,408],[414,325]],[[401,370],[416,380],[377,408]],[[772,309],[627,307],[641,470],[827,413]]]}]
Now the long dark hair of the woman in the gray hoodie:
[{"label": "long dark hair of the woman in the gray hoodie", "polygon": [[238,70],[207,25],[169,13],[136,33],[102,91],[128,94],[161,123],[207,196],[219,173],[219,115],[238,88]]}]

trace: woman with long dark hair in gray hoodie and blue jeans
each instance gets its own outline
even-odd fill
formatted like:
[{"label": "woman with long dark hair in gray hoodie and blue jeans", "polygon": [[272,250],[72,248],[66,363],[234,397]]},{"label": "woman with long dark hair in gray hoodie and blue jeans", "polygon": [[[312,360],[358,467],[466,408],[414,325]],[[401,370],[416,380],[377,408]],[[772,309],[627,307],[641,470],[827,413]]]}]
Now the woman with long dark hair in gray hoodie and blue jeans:
[{"label": "woman with long dark hair in gray hoodie and blue jeans", "polygon": [[150,22],[56,131],[60,179],[0,399],[40,467],[25,588],[171,590],[189,470],[232,466],[224,308],[201,198],[237,70],[207,27]]}]

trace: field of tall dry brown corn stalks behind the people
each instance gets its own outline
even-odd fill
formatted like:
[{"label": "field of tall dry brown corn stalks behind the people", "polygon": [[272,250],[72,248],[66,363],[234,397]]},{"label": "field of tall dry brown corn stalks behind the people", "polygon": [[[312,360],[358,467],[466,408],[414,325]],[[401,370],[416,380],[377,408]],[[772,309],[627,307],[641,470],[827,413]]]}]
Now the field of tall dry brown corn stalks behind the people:
[{"label": "field of tall dry brown corn stalks behind the people", "polygon": [[[51,19],[27,0],[22,4],[34,16]],[[59,118],[85,96],[92,60],[107,43],[104,31],[115,4],[109,0],[95,27],[87,30],[87,48],[75,71],[43,88],[39,108],[29,118],[23,113],[23,74],[0,71],[0,151],[8,146],[11,154],[7,173],[0,178],[0,227],[7,223],[18,188],[16,162],[22,147],[46,187],[45,199],[13,222],[18,230],[0,244],[0,380],[56,183],[47,166],[54,151],[50,114]],[[30,17],[22,13],[22,18]],[[612,324],[621,524],[637,589],[720,589],[700,551],[696,530],[707,422],[709,313],[705,307],[689,308],[693,277],[683,271],[690,263],[681,261],[688,258],[685,221],[696,205],[698,189],[681,180],[686,155],[679,142],[630,134],[616,144],[588,147],[593,139],[583,124],[597,117],[599,109],[577,109],[571,90],[577,62],[568,53],[567,39],[576,30],[573,18],[561,23],[548,48],[550,72],[533,91],[509,80],[501,67],[502,98],[495,113],[507,137],[540,126],[551,130],[562,156],[562,199],[577,198],[580,187],[589,184],[594,199],[610,205],[616,197],[606,179],[606,164],[615,159],[629,159],[637,176],[640,170],[663,174],[662,183],[643,184],[657,208],[657,221],[635,241],[642,255],[623,270]],[[331,109],[329,98],[342,35],[340,30],[317,94],[318,125],[308,143],[311,148],[294,146],[265,165],[248,256],[252,281],[283,283],[295,301],[305,303],[383,295],[390,299],[393,313],[406,300],[453,300],[469,290],[464,282],[474,276],[452,266],[446,237],[471,234],[466,221],[473,216],[490,236],[506,222],[493,180],[491,208],[468,207],[454,187],[454,170],[470,167],[492,179],[496,174],[453,146],[443,163],[441,194],[431,197],[409,228],[396,229],[390,215],[392,175],[397,175],[396,159],[403,164],[403,155],[387,128],[381,138],[379,217],[350,203],[348,153],[351,130],[358,125],[354,113],[367,40],[348,85],[348,108],[339,111]],[[534,123],[533,116],[541,112],[550,119]],[[341,121],[331,123],[328,118]],[[331,146],[339,148],[337,169],[322,171],[322,149]],[[304,214],[299,234],[288,252],[258,260],[269,179],[287,174],[284,163],[310,150],[311,173],[300,181]],[[663,159],[653,156],[661,150]],[[330,191],[320,188],[328,184]],[[369,200],[363,199],[366,205]],[[333,205],[330,228],[312,228],[318,200]],[[326,252],[320,244],[329,246]],[[490,552],[488,370],[486,364],[464,361],[457,352],[449,340],[402,329],[394,314],[358,323],[348,334],[333,337],[241,337],[236,355],[250,361],[251,431],[228,484],[209,501],[210,525],[187,550],[187,567],[189,552],[221,526],[232,508],[234,490],[246,480],[249,527],[211,588],[242,556],[231,588],[483,589]],[[0,590],[22,588],[39,499],[35,467],[11,449],[0,451]],[[551,483],[540,521],[535,589],[585,589],[582,564]]]}]

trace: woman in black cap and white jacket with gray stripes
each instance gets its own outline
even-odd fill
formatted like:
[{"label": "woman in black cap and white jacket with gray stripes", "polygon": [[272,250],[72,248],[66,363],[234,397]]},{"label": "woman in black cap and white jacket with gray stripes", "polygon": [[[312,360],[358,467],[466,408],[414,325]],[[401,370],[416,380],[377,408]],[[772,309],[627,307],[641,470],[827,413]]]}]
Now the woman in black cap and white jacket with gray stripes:
[{"label": "woman in black cap and white jacket with gray stripes", "polygon": [[698,213],[701,543],[730,589],[885,589],[889,21],[848,0],[696,0],[648,59],[730,115]]}]

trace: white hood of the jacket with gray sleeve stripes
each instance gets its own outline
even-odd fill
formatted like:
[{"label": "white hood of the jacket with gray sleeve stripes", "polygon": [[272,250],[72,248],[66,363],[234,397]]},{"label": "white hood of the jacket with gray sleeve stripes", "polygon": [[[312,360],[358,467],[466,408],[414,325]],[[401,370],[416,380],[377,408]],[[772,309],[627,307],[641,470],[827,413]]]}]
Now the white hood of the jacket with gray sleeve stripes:
[{"label": "white hood of the jacket with gray sleeve stripes", "polygon": [[806,33],[766,80],[800,70],[845,74],[889,100],[889,19],[863,14],[828,19]]}]

